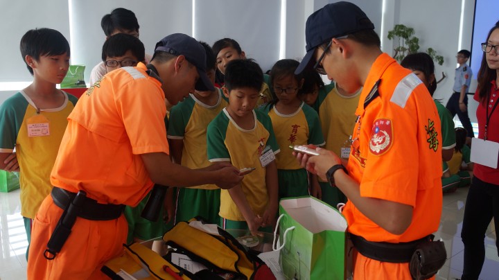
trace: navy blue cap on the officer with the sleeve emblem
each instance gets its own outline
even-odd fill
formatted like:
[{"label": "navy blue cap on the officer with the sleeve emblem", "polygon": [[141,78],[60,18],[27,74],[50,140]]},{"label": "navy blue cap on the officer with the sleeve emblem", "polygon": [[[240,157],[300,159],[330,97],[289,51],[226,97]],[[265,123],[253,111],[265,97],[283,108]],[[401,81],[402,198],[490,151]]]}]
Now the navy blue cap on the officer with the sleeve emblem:
[{"label": "navy blue cap on the officer with the sleeve emblem", "polygon": [[332,38],[342,37],[360,30],[374,29],[374,24],[358,6],[350,2],[331,3],[308,17],[305,26],[306,55],[295,71],[298,75],[313,67],[317,46]]}]

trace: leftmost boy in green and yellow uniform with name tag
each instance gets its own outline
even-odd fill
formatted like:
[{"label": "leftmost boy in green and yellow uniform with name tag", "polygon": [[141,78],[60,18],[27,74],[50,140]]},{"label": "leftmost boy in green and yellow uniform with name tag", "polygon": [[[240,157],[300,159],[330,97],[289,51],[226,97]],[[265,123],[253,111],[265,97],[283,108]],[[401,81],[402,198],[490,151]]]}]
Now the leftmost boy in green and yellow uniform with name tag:
[{"label": "leftmost boy in green and yellow uniform with name tag", "polygon": [[[29,30],[21,39],[21,55],[33,83],[0,107],[0,168],[14,148],[21,185],[21,216],[28,237],[40,204],[52,190],[50,174],[58,154],[67,116],[78,100],[55,85],[69,68],[69,43],[57,30]],[[15,159],[14,159],[15,160]]]}]

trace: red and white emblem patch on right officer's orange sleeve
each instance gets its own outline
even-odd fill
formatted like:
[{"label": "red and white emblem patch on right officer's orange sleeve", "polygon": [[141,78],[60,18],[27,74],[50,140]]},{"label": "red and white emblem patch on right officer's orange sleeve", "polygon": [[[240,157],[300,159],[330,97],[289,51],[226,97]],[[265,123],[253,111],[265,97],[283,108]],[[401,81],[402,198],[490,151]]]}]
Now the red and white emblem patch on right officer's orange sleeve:
[{"label": "red and white emblem patch on right officer's orange sleeve", "polygon": [[383,155],[393,142],[392,121],[387,119],[377,119],[373,123],[371,139],[369,140],[369,150],[374,155]]}]

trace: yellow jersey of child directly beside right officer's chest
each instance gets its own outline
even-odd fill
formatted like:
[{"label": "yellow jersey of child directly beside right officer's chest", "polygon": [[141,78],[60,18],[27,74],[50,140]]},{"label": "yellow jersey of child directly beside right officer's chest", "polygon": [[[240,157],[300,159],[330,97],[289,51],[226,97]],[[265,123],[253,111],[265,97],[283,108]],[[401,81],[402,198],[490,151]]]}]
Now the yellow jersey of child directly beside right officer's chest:
[{"label": "yellow jersey of child directly beside right officer's chest", "polygon": [[[356,123],[355,111],[362,89],[351,96],[342,96],[335,82],[326,85],[324,89],[324,91],[319,91],[316,101],[316,103],[319,102],[319,119],[326,140],[324,148],[335,152],[336,155],[341,155],[341,148],[345,145],[345,141],[348,141]],[[327,89],[330,91],[324,96]],[[350,143],[347,142],[347,147],[349,146]]]}]

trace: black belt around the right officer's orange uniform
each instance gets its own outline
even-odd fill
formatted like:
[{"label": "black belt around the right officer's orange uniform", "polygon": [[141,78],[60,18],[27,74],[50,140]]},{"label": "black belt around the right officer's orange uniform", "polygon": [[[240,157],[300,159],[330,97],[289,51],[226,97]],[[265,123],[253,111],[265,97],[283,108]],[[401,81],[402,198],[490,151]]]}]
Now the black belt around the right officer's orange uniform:
[{"label": "black belt around the right officer's orange uniform", "polygon": [[360,254],[387,263],[409,263],[417,245],[431,240],[425,236],[407,243],[371,242],[355,234],[350,234],[350,238]]}]

